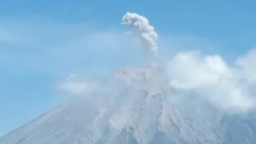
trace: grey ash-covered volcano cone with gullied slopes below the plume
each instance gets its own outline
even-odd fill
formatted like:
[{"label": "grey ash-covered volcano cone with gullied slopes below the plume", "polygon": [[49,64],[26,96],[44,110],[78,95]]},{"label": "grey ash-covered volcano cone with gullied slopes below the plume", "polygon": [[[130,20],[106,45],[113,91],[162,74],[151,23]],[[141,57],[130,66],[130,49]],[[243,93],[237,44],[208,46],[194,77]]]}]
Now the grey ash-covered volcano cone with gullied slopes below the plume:
[{"label": "grey ash-covered volcano cone with gullied slopes below the plume", "polygon": [[90,97],[66,102],[0,144],[256,143],[253,114],[226,116],[192,94],[176,99],[164,78],[157,67],[120,68]]}]

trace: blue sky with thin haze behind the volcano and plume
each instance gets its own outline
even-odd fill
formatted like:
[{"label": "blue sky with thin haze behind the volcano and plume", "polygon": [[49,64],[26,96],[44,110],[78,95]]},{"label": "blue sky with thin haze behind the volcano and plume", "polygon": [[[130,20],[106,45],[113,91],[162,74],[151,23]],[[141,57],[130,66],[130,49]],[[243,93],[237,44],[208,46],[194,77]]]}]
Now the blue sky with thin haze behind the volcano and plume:
[{"label": "blue sky with thin haze behind the volcano and plume", "polygon": [[120,36],[125,12],[150,20],[164,56],[197,49],[232,61],[256,44],[255,7],[250,0],[1,1],[0,136],[67,99],[56,84],[69,74],[137,63],[136,50],[128,52],[136,44]]}]

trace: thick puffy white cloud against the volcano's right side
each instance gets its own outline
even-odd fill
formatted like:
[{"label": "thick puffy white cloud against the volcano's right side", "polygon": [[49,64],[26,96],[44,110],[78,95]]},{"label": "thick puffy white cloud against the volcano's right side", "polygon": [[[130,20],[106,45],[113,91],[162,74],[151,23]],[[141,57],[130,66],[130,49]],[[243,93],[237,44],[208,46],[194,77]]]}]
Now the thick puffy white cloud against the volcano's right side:
[{"label": "thick puffy white cloud against the volcano's right side", "polygon": [[[230,66],[220,55],[204,56],[199,51],[179,52],[168,62],[170,85],[189,96],[195,92],[214,106],[230,111],[255,108],[256,52],[237,58]],[[254,63],[254,64],[253,64]]]}]

